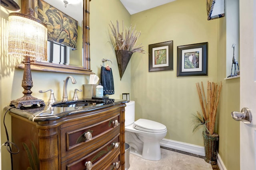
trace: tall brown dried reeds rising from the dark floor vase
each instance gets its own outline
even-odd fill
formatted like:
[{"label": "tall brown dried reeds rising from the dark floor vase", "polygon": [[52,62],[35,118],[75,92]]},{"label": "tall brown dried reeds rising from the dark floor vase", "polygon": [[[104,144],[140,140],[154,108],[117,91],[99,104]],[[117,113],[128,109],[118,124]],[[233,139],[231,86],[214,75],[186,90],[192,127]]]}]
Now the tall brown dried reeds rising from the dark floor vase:
[{"label": "tall brown dried reeds rising from the dark floor vase", "polygon": [[220,86],[218,86],[217,83],[208,82],[207,96],[204,92],[203,82],[201,82],[201,86],[202,88],[200,88],[199,83],[196,83],[202,113],[197,111],[197,113],[193,115],[193,123],[195,125],[193,128],[193,132],[202,125],[205,134],[213,135],[217,107],[219,104],[220,93],[222,90],[222,82],[220,82]]}]

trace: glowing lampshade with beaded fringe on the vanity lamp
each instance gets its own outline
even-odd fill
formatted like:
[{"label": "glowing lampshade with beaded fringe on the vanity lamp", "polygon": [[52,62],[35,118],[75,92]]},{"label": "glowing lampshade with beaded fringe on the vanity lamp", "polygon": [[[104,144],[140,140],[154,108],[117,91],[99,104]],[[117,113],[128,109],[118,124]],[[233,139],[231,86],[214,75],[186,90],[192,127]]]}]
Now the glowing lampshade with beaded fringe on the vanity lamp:
[{"label": "glowing lampshade with beaded fringe on the vanity lamp", "polygon": [[31,61],[47,60],[47,27],[29,14],[9,14],[8,53],[29,56]]}]

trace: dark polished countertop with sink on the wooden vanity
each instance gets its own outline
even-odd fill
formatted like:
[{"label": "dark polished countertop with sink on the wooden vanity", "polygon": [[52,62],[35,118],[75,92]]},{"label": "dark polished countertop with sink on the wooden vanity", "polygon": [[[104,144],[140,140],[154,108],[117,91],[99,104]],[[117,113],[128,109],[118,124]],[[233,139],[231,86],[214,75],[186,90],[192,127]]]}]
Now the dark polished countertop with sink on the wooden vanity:
[{"label": "dark polished countertop with sink on the wooden vanity", "polygon": [[48,104],[47,106],[20,107],[20,109],[16,109],[15,107],[11,106],[6,106],[4,110],[10,109],[12,113],[25,117],[30,121],[38,122],[60,119],[62,117],[66,117],[67,115],[78,114],[85,111],[92,111],[96,109],[103,109],[114,105],[125,104],[127,102],[127,100],[120,99],[85,99],[77,100],[75,101],[75,104],[74,101],[68,100],[67,102],[65,102],[65,105],[63,105],[63,102],[55,102],[53,104]]}]

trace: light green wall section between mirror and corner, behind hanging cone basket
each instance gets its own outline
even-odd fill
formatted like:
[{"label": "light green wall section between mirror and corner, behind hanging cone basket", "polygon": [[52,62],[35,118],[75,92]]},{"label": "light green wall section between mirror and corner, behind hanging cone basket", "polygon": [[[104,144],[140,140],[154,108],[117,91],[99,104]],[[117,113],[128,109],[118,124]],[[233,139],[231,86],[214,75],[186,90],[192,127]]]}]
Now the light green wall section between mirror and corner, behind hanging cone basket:
[{"label": "light green wall section between mirror and corner, behind hanging cone basket", "polygon": [[[118,14],[118,15],[117,15]],[[91,69],[100,77],[102,59],[112,61],[115,94],[111,98],[121,98],[122,93],[130,93],[130,63],[128,64],[122,80],[120,80],[116,54],[109,43],[110,21],[121,26],[130,25],[130,14],[124,8],[120,0],[92,0],[90,2],[90,56]],[[107,64],[111,64],[108,62]]]}]

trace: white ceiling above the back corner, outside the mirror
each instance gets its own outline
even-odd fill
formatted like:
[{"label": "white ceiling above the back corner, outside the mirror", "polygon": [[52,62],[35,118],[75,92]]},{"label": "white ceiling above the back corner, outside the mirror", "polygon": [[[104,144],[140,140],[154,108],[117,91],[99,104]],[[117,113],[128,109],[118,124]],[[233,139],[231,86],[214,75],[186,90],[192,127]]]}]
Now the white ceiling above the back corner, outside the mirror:
[{"label": "white ceiling above the back corner, outside the mirror", "polygon": [[132,15],[150,8],[154,8],[175,0],[120,0],[126,10]]}]

